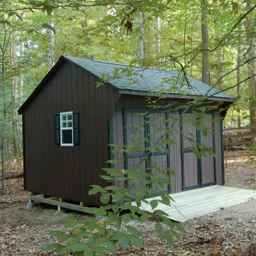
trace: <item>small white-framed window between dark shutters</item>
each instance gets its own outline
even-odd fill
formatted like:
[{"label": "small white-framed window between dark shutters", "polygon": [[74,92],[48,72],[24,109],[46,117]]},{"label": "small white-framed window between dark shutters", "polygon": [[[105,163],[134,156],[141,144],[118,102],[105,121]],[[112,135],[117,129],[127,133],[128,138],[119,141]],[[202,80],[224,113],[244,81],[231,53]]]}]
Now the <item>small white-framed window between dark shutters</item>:
[{"label": "small white-framed window between dark shutters", "polygon": [[60,113],[60,146],[74,146],[73,112]]}]

